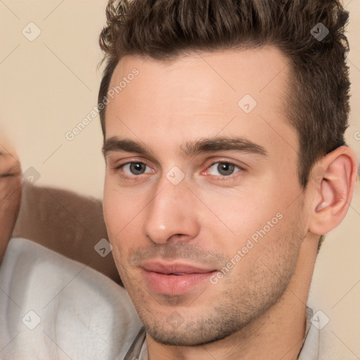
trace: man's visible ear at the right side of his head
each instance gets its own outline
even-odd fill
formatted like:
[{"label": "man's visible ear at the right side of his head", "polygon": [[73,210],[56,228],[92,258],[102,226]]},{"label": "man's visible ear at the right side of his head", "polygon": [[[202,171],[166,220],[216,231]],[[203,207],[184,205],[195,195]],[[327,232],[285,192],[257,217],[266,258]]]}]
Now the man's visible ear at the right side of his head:
[{"label": "man's visible ear at the right side of his head", "polygon": [[356,155],[347,146],[340,146],[317,162],[311,176],[311,233],[324,235],[341,223],[352,201],[356,176]]}]

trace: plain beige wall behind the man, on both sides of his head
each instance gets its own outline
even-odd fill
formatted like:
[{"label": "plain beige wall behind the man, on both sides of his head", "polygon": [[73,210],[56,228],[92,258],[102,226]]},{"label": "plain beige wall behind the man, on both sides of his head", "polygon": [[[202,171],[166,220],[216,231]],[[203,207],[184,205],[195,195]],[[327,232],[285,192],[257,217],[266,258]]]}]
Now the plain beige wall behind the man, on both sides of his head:
[{"label": "plain beige wall behind the man, on both sides of his head", "polygon": [[[0,141],[10,139],[23,171],[34,167],[38,185],[102,197],[104,162],[98,117],[73,141],[65,139],[97,103],[101,72],[98,34],[105,0],[0,1]],[[351,14],[349,65],[352,114],[347,141],[360,158],[360,0],[345,1]],[[29,41],[22,30],[41,30]],[[32,34],[34,34],[34,27]],[[360,185],[345,221],[326,238],[309,304],[330,322],[343,359],[360,359]],[[356,355],[355,355],[356,354]],[[356,357],[358,356],[358,357]]]}]

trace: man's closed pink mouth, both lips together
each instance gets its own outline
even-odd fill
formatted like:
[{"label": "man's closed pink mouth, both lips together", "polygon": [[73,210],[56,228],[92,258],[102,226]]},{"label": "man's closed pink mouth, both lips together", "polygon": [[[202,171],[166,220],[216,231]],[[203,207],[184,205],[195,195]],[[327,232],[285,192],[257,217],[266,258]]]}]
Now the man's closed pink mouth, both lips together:
[{"label": "man's closed pink mouth, both lips together", "polygon": [[148,288],[163,295],[182,295],[202,285],[217,269],[189,264],[149,262],[141,266]]}]

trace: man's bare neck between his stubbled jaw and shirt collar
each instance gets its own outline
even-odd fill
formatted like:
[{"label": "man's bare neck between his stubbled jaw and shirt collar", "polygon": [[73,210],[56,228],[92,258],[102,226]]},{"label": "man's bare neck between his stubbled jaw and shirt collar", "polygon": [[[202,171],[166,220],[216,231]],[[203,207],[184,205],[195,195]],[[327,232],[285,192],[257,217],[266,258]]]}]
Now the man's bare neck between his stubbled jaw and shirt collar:
[{"label": "man's bare neck between his stubbled jaw and shirt collar", "polygon": [[[303,247],[314,243],[305,242]],[[193,347],[162,345],[147,334],[149,360],[296,360],[304,341],[306,303],[316,259],[316,252],[308,250],[300,252],[295,274],[281,299],[257,321],[223,340]],[[314,258],[309,259],[309,253],[315,254]]]}]

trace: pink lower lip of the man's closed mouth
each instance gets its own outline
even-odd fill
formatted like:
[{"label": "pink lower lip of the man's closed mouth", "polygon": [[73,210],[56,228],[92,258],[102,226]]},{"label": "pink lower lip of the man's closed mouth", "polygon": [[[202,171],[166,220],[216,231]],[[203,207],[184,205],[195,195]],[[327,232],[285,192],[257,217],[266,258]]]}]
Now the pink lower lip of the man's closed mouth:
[{"label": "pink lower lip of the man's closed mouth", "polygon": [[181,295],[195,288],[196,285],[208,280],[216,271],[184,275],[165,275],[154,271],[143,270],[151,290],[160,294]]}]

